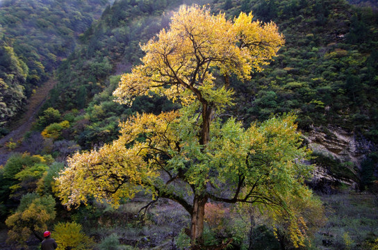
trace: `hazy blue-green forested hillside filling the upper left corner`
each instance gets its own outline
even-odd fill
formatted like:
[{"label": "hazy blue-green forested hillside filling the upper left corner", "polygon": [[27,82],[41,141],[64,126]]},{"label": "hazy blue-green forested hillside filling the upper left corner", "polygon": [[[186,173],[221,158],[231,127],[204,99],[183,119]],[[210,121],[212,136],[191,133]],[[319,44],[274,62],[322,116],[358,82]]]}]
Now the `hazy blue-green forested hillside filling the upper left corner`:
[{"label": "hazy blue-green forested hillside filling the upper left corner", "polygon": [[0,77],[9,90],[0,93],[0,126],[22,110],[33,90],[69,56],[79,35],[108,4],[107,0],[1,1]]}]

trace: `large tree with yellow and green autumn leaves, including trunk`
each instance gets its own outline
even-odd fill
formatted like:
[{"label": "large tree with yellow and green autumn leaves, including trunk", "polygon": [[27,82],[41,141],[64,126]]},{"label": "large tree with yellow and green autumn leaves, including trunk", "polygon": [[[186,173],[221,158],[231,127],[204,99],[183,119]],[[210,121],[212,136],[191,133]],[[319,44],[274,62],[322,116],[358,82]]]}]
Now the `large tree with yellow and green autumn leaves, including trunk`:
[{"label": "large tree with yellow and green autumn leaves, including trunk", "polygon": [[252,14],[230,21],[206,8],[182,7],[170,28],[142,45],[142,64],[124,74],[114,92],[126,104],[155,92],[182,108],[131,117],[120,124],[118,140],[69,158],[58,178],[63,203],[72,208],[94,197],[117,205],[121,197],[147,190],[188,211],[192,249],[203,244],[209,199],[254,203],[286,213],[301,241],[304,227],[285,202],[311,196],[303,185],[311,167],[301,160],[308,152],[300,147],[295,117],[247,129],[222,119],[232,104],[229,76],[249,78],[283,44],[275,24],[252,22]]}]

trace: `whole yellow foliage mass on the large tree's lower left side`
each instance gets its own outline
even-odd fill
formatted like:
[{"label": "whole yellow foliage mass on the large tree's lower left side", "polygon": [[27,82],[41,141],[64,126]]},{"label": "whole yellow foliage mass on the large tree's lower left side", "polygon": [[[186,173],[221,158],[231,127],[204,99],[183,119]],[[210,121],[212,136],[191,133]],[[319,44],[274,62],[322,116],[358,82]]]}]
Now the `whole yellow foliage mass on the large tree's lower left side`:
[{"label": "whole yellow foliage mass on the large tree's lower left side", "polygon": [[112,144],[69,158],[68,167],[57,178],[63,204],[77,207],[94,197],[117,206],[121,197],[132,198],[139,187],[158,176],[156,152],[175,147],[167,127],[177,116],[176,112],[136,115],[120,124],[122,135]]}]

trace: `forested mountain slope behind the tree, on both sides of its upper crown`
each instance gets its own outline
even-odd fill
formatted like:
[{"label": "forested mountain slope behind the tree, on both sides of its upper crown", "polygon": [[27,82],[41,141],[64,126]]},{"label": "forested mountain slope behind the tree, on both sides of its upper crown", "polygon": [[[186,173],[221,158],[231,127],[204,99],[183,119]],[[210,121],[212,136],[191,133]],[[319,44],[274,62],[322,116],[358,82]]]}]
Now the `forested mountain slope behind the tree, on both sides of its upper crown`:
[{"label": "forested mountain slope behind the tree, on both sides of its upper crown", "polygon": [[[172,9],[180,3],[172,1],[158,6],[158,2],[116,1],[108,7],[99,23],[81,37],[81,49],[60,67],[60,83],[51,92],[45,108],[65,112],[89,104],[89,117],[92,111],[104,117],[113,117],[111,110],[117,110],[118,115],[130,112],[125,107],[110,105],[110,93],[115,86],[109,85],[108,77],[127,72],[138,63],[142,56],[139,43],[167,26],[169,11],[165,8]],[[240,103],[231,107],[233,115],[249,124],[296,110],[299,127],[304,131],[311,126],[332,124],[376,140],[375,10],[356,8],[341,0],[244,0],[240,4],[213,1],[210,5],[213,12],[224,11],[229,18],[240,11],[252,11],[256,19],[273,20],[286,38],[279,56],[263,72],[256,72],[252,81],[241,84],[231,78],[236,101]],[[144,110],[141,104],[135,105],[135,110]],[[86,138],[86,143],[88,140],[91,139]]]}]

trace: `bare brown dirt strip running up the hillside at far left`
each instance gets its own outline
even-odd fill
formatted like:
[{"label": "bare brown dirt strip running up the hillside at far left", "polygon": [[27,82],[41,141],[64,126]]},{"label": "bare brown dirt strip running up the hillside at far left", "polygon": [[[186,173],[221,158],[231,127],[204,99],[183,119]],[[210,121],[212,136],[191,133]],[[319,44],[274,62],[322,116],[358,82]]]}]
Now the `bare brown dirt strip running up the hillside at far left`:
[{"label": "bare brown dirt strip running up the hillside at far left", "polygon": [[12,139],[13,142],[17,142],[18,140],[22,140],[22,138],[24,138],[25,133],[30,131],[31,125],[35,121],[35,115],[38,113],[38,110],[47,100],[49,91],[52,90],[55,85],[55,79],[50,78],[49,81],[38,88],[35,94],[28,99],[25,113],[23,113],[21,117],[17,119],[17,121],[13,122],[13,124],[10,124],[12,131],[0,139],[0,165],[5,164],[10,153],[12,153],[12,151],[9,151],[6,148],[6,142],[8,142],[10,139]]}]

